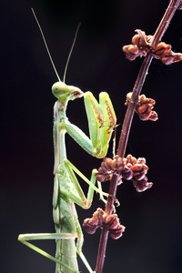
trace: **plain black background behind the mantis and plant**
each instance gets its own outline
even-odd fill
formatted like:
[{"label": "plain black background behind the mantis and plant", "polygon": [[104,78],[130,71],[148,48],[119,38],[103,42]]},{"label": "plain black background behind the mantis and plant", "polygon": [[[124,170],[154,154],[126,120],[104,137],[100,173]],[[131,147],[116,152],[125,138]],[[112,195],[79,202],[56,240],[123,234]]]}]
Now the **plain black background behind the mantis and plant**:
[{"label": "plain black background behind the mantis and plant", "polygon": [[[61,78],[79,22],[82,23],[66,74],[68,85],[106,90],[122,124],[126,93],[132,90],[142,59],[126,60],[135,29],[154,34],[168,1],[3,1],[1,4],[1,172],[0,272],[54,272],[55,264],[17,241],[18,234],[54,232],[52,221],[52,122],[57,81],[31,12],[42,25]],[[163,40],[182,51],[182,11],[177,11]],[[134,116],[126,154],[146,157],[147,177],[154,186],[136,193],[131,182],[116,197],[124,236],[109,238],[104,272],[181,272],[181,85],[182,63],[165,66],[153,60],[142,93],[156,99],[159,119],[141,122]],[[67,116],[87,133],[83,99],[70,102]],[[121,126],[117,127],[117,138]],[[69,136],[67,156],[86,175],[100,160],[90,157]],[[111,149],[109,156],[112,156]],[[86,189],[86,185],[81,181]],[[104,185],[107,191],[107,185]],[[77,208],[80,222],[104,207],[96,197],[89,210]],[[84,231],[85,233],[85,231]],[[100,231],[85,233],[84,253],[96,265]],[[55,242],[38,244],[54,255]],[[80,262],[80,270],[86,268]]]}]

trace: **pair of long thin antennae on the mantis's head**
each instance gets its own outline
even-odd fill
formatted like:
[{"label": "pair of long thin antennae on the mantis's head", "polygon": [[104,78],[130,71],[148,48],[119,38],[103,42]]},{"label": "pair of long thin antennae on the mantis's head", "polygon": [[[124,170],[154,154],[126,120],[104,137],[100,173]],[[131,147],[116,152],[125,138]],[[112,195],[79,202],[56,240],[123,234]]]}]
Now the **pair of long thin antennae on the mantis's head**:
[{"label": "pair of long thin antennae on the mantis's head", "polygon": [[[58,73],[57,73],[57,71],[56,71],[56,66],[55,66],[55,64],[54,64],[54,62],[53,62],[52,56],[51,56],[50,51],[49,51],[49,49],[48,49],[48,45],[46,44],[45,35],[44,35],[44,33],[43,33],[43,30],[42,30],[42,28],[41,28],[41,26],[40,26],[40,24],[39,24],[39,22],[38,22],[38,19],[37,19],[36,15],[35,15],[34,9],[33,9],[33,8],[31,8],[31,9],[32,9],[33,15],[35,16],[35,21],[36,21],[36,23],[37,23],[37,25],[38,25],[38,27],[39,27],[39,29],[40,29],[40,33],[41,33],[41,35],[42,35],[42,37],[43,37],[43,41],[44,41],[44,43],[45,43],[45,48],[46,48],[46,51],[47,51],[48,56],[49,56],[49,58],[50,58],[51,64],[52,64],[52,66],[53,66],[53,68],[54,68],[54,70],[55,70],[55,72],[56,72],[56,76],[57,76],[59,82],[61,82],[61,79],[60,79],[60,77],[58,76]],[[70,60],[71,54],[72,54],[73,49],[74,49],[74,45],[76,44],[76,37],[77,37],[77,33],[78,33],[78,30],[79,30],[80,25],[81,25],[81,23],[79,23],[79,25],[77,25],[77,28],[76,28],[76,35],[75,35],[75,37],[74,37],[73,44],[72,44],[72,46],[71,46],[69,55],[68,55],[68,57],[67,57],[66,68],[65,68],[64,77],[63,77],[63,82],[64,82],[64,83],[65,83],[65,79],[66,79],[67,66],[68,66],[68,64],[69,64],[69,60]]]}]

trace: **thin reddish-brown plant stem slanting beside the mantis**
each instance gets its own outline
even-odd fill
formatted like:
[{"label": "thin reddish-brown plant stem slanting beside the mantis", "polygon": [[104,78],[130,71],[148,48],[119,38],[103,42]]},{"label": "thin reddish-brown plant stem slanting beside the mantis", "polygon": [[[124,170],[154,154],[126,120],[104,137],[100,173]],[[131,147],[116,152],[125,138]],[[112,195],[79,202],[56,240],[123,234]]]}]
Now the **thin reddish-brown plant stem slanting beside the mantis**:
[{"label": "thin reddish-brown plant stem slanting beside the mantis", "polygon": [[[151,45],[155,47],[161,40],[162,36],[165,34],[167,30],[167,26],[169,25],[173,15],[175,14],[177,10],[177,6],[179,5],[180,0],[171,0],[165,15],[163,16],[160,24],[157,27],[157,31],[155,35],[153,36],[153,41]],[[144,85],[148,68],[152,61],[152,56],[148,53],[145,57],[142,66],[140,67],[138,76],[136,78],[136,84],[133,88],[133,94],[131,96],[131,101],[128,103],[127,110],[126,110],[126,116],[124,119],[124,123],[121,129],[121,134],[119,138],[118,143],[118,149],[117,149],[117,155],[119,157],[125,157],[126,152],[126,144],[127,139],[129,136],[129,131],[131,127],[131,123],[133,120],[136,102],[138,99],[138,96],[140,95],[140,92],[142,90],[142,87]],[[110,187],[109,187],[109,195],[106,203],[106,209],[105,212],[109,215],[112,214],[113,205],[114,205],[114,198],[116,197],[116,187],[117,187],[118,177],[116,175],[113,176],[112,180],[110,181]],[[104,266],[104,260],[106,255],[106,242],[108,238],[108,231],[103,228],[100,236],[100,242],[98,247],[98,254],[97,254],[97,261],[96,261],[96,273],[102,273],[103,266]]]}]

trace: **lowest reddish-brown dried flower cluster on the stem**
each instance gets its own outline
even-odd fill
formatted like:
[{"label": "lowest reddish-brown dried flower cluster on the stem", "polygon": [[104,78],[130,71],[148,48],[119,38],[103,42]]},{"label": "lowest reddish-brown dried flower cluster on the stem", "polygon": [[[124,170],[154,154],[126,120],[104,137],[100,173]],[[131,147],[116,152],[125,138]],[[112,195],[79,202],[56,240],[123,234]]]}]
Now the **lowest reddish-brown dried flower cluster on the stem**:
[{"label": "lowest reddish-brown dried flower cluster on the stem", "polygon": [[119,219],[116,214],[107,215],[104,210],[98,207],[92,218],[84,220],[83,227],[86,232],[94,234],[97,227],[106,228],[109,231],[111,238],[120,238],[125,231],[125,227],[119,224]]}]

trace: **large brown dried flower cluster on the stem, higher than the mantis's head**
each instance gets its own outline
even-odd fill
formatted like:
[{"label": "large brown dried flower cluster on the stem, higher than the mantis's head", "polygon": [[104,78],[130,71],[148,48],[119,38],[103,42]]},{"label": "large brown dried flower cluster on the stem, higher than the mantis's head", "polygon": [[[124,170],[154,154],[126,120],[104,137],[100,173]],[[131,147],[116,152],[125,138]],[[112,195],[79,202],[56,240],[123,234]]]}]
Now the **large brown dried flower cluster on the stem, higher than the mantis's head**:
[{"label": "large brown dried flower cluster on the stem, higher than the mantis's head", "polygon": [[[178,5],[178,9],[181,8],[182,5]],[[132,45],[123,46],[123,51],[126,53],[128,60],[133,61],[137,56],[147,56],[147,53],[160,59],[165,65],[177,63],[182,60],[182,54],[174,53],[171,50],[171,45],[161,42],[153,48],[151,46],[153,40],[152,35],[146,35],[145,32],[140,29],[136,29],[136,33],[137,35],[134,35],[132,38]]]}]

